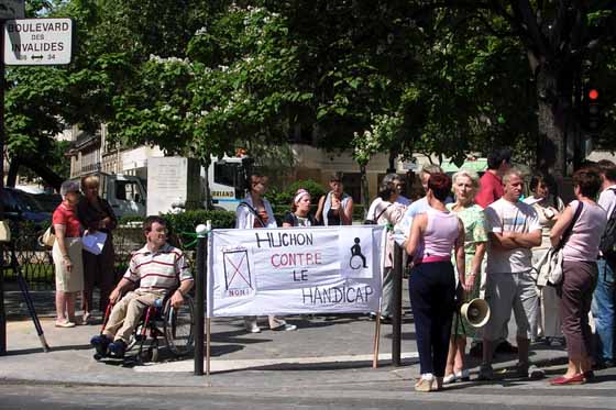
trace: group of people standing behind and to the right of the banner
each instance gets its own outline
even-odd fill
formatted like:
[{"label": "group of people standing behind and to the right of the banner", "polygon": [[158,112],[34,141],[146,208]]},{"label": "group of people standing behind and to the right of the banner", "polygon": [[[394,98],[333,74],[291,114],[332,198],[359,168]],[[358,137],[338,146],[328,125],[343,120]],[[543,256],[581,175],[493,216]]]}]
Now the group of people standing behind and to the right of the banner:
[{"label": "group of people standing behind and to the right of the banner", "polygon": [[[419,174],[426,195],[413,202],[402,196],[399,176],[383,178],[364,221],[387,226],[381,320],[387,323],[392,314],[393,247],[398,242],[411,267],[409,292],[421,374],[418,391],[470,379],[469,339],[481,346],[477,379],[494,379],[494,354],[508,339],[512,314],[517,328],[516,377],[544,376],[529,359],[531,342],[543,340],[566,346],[569,356],[566,372],[550,383],[585,383],[594,377],[593,368],[612,366],[614,361],[616,261],[602,255],[598,246],[616,208],[616,165],[602,160],[576,170],[575,199],[566,207],[547,174],[531,175],[527,191],[526,176],[512,167],[509,149],[493,152],[481,178],[468,169],[449,177],[439,166],[427,165]],[[251,180],[245,204],[238,208],[237,228],[275,226],[271,206],[262,198],[266,179],[253,178],[257,179]],[[255,187],[260,182],[262,187]],[[344,193],[339,176],[331,178],[315,217],[310,206],[310,193],[299,189],[283,226],[352,223],[353,200]],[[562,281],[538,285],[536,266],[558,245],[563,248]],[[458,313],[461,303],[475,298],[490,306],[490,320],[481,329]],[[596,343],[590,319],[595,322]],[[271,317],[270,326],[288,330],[289,324],[279,320]],[[246,330],[260,328],[246,321]]]}]

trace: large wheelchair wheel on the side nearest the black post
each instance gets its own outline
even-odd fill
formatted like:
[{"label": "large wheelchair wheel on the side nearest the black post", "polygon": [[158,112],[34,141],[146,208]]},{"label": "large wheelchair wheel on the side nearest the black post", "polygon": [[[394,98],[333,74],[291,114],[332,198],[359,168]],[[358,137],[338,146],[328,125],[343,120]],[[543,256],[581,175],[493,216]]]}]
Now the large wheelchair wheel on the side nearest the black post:
[{"label": "large wheelchair wheel on the side nearest the black post", "polygon": [[195,312],[193,299],[184,298],[184,303],[175,309],[170,300],[163,311],[163,333],[169,351],[176,356],[187,355],[195,346]]}]

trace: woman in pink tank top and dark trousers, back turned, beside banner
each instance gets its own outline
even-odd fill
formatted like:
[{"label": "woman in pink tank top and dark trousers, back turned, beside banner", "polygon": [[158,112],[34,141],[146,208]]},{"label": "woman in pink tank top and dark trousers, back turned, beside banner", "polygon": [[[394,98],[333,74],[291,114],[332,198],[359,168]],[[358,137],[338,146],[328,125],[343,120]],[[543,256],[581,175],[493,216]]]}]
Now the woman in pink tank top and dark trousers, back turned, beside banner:
[{"label": "woman in pink tank top and dark trousers, back turned, beside banner", "polygon": [[[455,278],[451,264],[453,248],[458,272],[461,273],[460,281],[464,290],[471,289],[464,277],[464,225],[444,206],[450,193],[451,178],[446,174],[432,174],[426,193],[430,208],[415,217],[406,243],[406,252],[415,255],[408,287],[421,373],[415,385],[417,391],[442,388],[455,309]],[[418,248],[422,251],[416,255]]]}]

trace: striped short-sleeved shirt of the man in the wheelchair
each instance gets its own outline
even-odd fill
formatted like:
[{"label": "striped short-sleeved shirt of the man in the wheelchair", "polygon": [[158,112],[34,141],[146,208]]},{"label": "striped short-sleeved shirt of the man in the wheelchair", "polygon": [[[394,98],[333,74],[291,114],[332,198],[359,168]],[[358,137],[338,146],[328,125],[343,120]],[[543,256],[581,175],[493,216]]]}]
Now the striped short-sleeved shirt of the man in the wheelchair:
[{"label": "striped short-sleeved shirt of the man in the wheelchair", "polygon": [[140,289],[169,291],[185,280],[193,280],[184,253],[166,243],[158,251],[152,252],[147,245],[136,251],[131,257],[124,279]]}]

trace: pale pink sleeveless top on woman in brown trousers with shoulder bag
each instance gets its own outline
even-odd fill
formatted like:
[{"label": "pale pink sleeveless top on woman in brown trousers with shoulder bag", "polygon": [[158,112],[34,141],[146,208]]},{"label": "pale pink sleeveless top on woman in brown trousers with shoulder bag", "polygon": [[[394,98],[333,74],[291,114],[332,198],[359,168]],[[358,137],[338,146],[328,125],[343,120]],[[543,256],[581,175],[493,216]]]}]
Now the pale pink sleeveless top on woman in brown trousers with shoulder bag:
[{"label": "pale pink sleeveless top on woman in brown trousers with shoulder bag", "polygon": [[[580,201],[571,201],[569,204],[573,212],[578,209]],[[607,213],[596,204],[584,202],[584,208],[580,212],[573,232],[569,241],[564,244],[562,256],[564,261],[596,261],[598,255],[598,243],[605,224]]]}]

